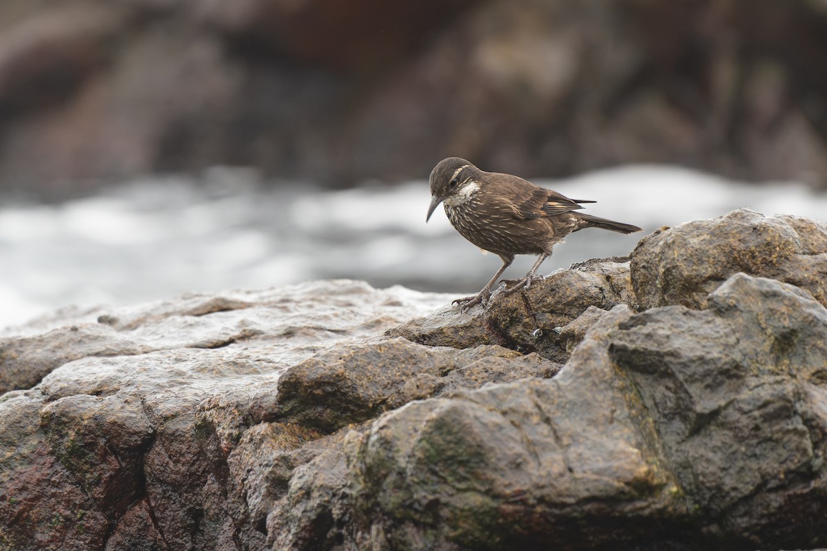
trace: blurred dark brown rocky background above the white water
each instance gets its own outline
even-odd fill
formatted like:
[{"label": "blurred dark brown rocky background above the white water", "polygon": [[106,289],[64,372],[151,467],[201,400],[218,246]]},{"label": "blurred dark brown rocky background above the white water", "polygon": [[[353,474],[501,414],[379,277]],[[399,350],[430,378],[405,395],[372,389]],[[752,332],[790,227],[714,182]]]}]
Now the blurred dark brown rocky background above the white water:
[{"label": "blurred dark brown rocky background above the white water", "polygon": [[0,189],[216,164],[345,187],[455,154],[827,187],[823,0],[3,0]]}]

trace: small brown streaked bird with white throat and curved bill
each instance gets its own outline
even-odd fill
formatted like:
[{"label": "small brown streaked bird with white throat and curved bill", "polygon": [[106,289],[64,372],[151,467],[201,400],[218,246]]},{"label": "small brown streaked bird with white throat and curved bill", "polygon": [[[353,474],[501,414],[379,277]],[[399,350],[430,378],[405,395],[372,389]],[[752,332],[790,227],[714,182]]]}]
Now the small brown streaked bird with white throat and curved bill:
[{"label": "small brown streaked bird with white throat and curved bill", "polygon": [[431,205],[425,222],[442,203],[445,214],[460,235],[480,249],[500,256],[503,265],[490,282],[476,295],[457,298],[452,305],[466,311],[490,302],[491,287],[517,254],[536,254],[537,262],[524,278],[505,280],[513,283],[504,289],[510,295],[528,289],[540,264],[552,254],[552,248],[566,235],[585,228],[600,228],[631,234],[638,226],[624,224],[576,212],[584,208],[585,199],[570,199],[512,174],[485,172],[459,157],[442,159],[429,178]]}]

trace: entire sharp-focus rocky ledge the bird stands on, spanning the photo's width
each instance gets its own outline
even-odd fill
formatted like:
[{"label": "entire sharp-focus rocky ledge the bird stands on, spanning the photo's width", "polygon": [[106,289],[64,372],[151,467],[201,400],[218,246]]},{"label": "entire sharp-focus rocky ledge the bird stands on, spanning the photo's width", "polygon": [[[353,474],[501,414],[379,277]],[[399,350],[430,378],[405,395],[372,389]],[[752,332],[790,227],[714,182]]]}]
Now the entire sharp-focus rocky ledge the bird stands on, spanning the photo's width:
[{"label": "entire sharp-focus rocky ledge the bird stands on, spanning the photo's width", "polygon": [[827,545],[827,224],[734,211],[486,311],[332,281],[0,340],[0,549]]}]

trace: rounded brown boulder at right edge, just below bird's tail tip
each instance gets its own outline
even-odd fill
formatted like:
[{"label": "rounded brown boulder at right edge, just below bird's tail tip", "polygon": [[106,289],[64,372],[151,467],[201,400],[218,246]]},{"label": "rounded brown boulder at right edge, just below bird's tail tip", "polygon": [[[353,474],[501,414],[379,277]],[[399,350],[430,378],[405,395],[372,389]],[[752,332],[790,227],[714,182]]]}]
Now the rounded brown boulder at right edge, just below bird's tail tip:
[{"label": "rounded brown boulder at right edge, just below bird's tail tip", "polygon": [[643,308],[704,308],[707,295],[739,272],[791,283],[827,305],[827,224],[732,211],[648,235],[634,249],[631,268]]}]

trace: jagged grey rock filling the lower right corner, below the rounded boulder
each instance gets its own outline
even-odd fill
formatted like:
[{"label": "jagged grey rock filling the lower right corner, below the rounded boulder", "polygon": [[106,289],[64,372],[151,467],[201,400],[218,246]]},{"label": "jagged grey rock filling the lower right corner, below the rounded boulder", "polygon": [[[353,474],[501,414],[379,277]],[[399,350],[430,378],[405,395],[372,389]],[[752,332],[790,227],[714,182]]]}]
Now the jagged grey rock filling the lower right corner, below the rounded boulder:
[{"label": "jagged grey rock filling the lower right corner, below the rounded boulder", "polygon": [[620,323],[611,358],[710,534],[763,548],[823,544],[827,310],[743,273],[707,303]]}]

